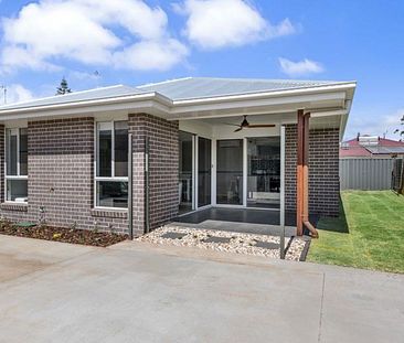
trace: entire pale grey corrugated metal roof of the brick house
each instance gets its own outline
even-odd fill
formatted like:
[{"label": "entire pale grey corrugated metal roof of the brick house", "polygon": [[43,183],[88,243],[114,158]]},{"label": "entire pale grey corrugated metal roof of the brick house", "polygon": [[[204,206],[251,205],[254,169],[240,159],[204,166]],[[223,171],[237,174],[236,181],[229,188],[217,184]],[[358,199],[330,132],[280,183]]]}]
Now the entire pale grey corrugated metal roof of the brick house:
[{"label": "entire pale grey corrugated metal roof of the brick house", "polygon": [[81,103],[95,99],[107,99],[113,97],[146,93],[159,93],[171,100],[180,100],[219,97],[225,95],[242,95],[263,92],[313,88],[339,84],[347,83],[325,81],[187,77],[156,84],[141,85],[138,87],[116,85],[110,87],[94,88],[89,90],[73,92],[65,95],[56,95],[24,103],[4,105],[0,107],[0,111],[10,109],[23,109],[38,106]]}]

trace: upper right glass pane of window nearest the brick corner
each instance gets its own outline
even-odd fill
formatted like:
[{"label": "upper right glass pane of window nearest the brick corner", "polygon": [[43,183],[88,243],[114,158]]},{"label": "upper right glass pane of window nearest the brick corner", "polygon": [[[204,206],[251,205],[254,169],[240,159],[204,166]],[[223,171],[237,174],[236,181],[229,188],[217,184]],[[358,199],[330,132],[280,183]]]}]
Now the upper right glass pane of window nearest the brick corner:
[{"label": "upper right glass pane of window nearest the brick corner", "polygon": [[115,176],[128,175],[128,122],[115,122]]}]

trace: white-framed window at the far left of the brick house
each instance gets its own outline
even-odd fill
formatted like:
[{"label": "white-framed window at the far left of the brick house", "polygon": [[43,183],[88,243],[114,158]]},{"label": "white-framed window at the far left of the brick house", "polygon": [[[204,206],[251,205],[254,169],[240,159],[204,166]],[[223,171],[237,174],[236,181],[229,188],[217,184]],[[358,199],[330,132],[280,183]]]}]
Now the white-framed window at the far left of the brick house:
[{"label": "white-framed window at the far left of the brick house", "polygon": [[28,202],[28,130],[6,130],[6,200]]}]

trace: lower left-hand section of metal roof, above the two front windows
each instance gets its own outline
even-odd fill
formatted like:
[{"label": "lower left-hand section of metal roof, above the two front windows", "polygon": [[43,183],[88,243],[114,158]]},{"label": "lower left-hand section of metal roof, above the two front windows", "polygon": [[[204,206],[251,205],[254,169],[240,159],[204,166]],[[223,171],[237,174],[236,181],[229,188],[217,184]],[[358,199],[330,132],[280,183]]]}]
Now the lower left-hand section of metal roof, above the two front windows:
[{"label": "lower left-hand section of metal roof, above the two front windows", "polygon": [[64,95],[55,95],[52,97],[33,99],[33,100],[29,100],[29,101],[24,101],[24,103],[4,105],[4,106],[0,107],[0,110],[18,109],[18,108],[26,108],[26,107],[35,107],[35,106],[60,105],[60,104],[68,104],[68,103],[77,103],[77,101],[87,101],[87,100],[105,99],[105,98],[141,94],[141,93],[145,93],[145,92],[137,89],[135,87],[116,85],[116,86],[109,86],[109,87],[94,88],[94,89],[89,89],[89,90],[73,92],[73,93],[67,93]]}]

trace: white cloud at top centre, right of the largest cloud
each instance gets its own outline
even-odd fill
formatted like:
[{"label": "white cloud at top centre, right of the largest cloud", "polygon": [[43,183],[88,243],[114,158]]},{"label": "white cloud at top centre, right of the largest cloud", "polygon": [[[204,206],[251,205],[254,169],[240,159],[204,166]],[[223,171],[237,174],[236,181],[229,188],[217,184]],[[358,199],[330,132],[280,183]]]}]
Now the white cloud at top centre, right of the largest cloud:
[{"label": "white cloud at top centre, right of the largest cloud", "polygon": [[173,8],[188,15],[185,36],[206,50],[240,46],[296,32],[288,19],[273,25],[243,0],[185,0]]}]

